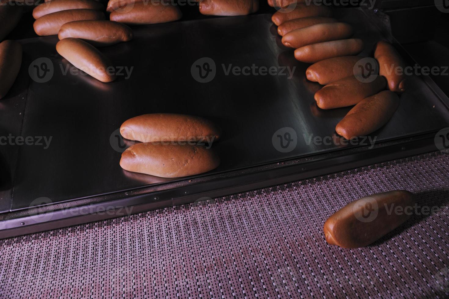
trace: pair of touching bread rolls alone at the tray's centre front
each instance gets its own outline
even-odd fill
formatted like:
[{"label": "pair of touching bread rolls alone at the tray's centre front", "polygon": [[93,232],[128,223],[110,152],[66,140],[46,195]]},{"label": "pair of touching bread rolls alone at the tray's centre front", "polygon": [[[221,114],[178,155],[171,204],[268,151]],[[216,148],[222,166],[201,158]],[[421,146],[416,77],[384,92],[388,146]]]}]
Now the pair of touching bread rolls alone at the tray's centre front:
[{"label": "pair of touching bread rolls alone at the tray's centre front", "polygon": [[181,178],[208,172],[220,164],[210,148],[220,138],[220,128],[201,117],[145,114],[125,121],[120,134],[142,142],[122,153],[120,166],[128,171]]}]

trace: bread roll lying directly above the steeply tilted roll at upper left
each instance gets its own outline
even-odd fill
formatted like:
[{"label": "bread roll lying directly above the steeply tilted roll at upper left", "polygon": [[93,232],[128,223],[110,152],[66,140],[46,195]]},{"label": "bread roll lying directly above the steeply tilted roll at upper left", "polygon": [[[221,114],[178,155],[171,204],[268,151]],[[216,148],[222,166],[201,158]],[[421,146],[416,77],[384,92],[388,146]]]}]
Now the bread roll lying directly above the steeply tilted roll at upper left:
[{"label": "bread roll lying directly above the steeply tilted roll at upper left", "polygon": [[61,26],[59,39],[73,37],[83,39],[96,47],[130,41],[133,37],[131,28],[113,21],[74,21]]}]

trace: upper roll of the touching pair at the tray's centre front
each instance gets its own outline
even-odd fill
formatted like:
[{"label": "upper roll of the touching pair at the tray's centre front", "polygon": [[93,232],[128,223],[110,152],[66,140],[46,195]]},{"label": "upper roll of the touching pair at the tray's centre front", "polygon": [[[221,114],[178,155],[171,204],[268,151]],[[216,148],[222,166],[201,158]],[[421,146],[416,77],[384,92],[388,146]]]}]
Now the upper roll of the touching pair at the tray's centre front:
[{"label": "upper roll of the touching pair at the tray's centre front", "polygon": [[211,143],[220,138],[221,130],[201,117],[153,113],[132,117],[120,127],[123,138],[141,142],[190,141]]}]

